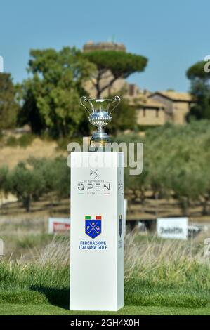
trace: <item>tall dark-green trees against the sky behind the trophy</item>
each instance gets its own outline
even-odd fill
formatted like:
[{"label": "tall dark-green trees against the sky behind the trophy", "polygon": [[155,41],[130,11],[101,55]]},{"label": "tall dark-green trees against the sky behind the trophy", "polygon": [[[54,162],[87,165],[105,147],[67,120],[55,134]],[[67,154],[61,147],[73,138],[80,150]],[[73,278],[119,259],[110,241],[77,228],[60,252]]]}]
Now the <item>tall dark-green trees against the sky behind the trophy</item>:
[{"label": "tall dark-green trees against the sky behind the trophy", "polygon": [[[210,73],[205,72],[205,65],[206,62],[197,62],[186,72],[195,100],[188,120],[210,119]],[[87,95],[86,81],[92,82],[99,98],[105,88],[110,91],[117,79],[143,72],[146,66],[144,56],[123,51],[83,53],[75,47],[32,50],[25,81],[14,86],[11,74],[0,74],[0,131],[29,124],[33,133],[47,132],[53,138],[88,136],[91,127],[79,104],[81,95]],[[101,81],[106,72],[112,79],[104,85]],[[123,91],[119,93],[123,96]],[[135,109],[124,100],[110,133],[133,130],[135,124]]]}]

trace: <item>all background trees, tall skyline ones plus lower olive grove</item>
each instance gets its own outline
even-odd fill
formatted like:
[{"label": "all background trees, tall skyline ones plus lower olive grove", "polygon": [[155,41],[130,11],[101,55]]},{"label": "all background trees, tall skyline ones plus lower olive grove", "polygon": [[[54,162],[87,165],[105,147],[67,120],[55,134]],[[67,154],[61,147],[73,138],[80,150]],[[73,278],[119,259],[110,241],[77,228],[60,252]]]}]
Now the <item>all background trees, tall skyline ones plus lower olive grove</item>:
[{"label": "all background trees, tall skyline ones plus lower olive grove", "polygon": [[[189,121],[210,119],[210,74],[204,71],[205,64],[197,62],[187,71],[195,98]],[[10,74],[0,74],[0,131],[30,124],[33,133],[47,132],[53,138],[90,135],[87,115],[79,105],[80,96],[87,95],[84,83],[91,79],[100,97],[105,87],[100,79],[105,72],[112,74],[106,86],[110,88],[118,78],[142,72],[146,65],[147,58],[121,51],[82,53],[74,47],[32,50],[28,78],[22,84],[14,85]],[[129,176],[125,171],[130,198],[144,204],[150,190],[156,199],[176,198],[183,214],[188,214],[189,206],[195,202],[202,205],[203,214],[208,213],[209,121],[192,121],[186,126],[166,124],[148,130],[143,139],[136,133],[119,136],[126,129],[135,131],[136,111],[125,100],[113,117],[108,129],[119,142],[144,142],[142,175]],[[32,201],[43,194],[56,192],[67,196],[69,176],[65,159],[29,159],[12,170],[1,168],[0,190],[15,194],[29,211]]]}]

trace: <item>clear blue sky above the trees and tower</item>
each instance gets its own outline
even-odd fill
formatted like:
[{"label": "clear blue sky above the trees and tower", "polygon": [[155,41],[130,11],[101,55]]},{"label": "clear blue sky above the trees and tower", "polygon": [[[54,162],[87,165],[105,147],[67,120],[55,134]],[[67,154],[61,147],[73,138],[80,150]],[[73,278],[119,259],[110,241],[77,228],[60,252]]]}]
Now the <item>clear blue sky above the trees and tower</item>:
[{"label": "clear blue sky above the trees and tower", "polygon": [[15,82],[27,77],[31,48],[81,48],[112,35],[149,59],[129,81],[150,91],[188,91],[185,71],[210,55],[207,0],[3,0],[0,11],[0,55]]}]

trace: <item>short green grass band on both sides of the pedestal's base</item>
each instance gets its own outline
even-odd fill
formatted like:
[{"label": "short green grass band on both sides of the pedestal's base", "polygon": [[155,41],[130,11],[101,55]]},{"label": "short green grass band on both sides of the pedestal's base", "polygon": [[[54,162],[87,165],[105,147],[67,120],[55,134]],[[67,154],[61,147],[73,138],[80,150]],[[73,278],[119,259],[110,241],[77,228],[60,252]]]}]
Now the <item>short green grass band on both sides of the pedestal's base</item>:
[{"label": "short green grass band on both sides of the pedestal's base", "polygon": [[[22,271],[18,265],[6,269],[1,264],[0,280],[0,307],[3,303],[18,303],[65,308],[69,303],[68,267],[55,270],[35,266]],[[206,310],[210,308],[210,291],[193,284],[163,285],[133,278],[125,282],[124,305]]]}]

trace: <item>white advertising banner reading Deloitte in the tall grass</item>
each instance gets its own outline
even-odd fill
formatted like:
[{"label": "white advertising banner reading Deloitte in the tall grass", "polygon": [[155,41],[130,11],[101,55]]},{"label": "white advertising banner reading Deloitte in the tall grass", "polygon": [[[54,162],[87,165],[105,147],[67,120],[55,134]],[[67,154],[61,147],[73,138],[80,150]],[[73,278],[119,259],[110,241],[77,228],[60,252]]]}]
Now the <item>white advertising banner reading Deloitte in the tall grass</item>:
[{"label": "white advertising banner reading Deloitte in the tall grass", "polygon": [[188,218],[157,218],[157,236],[188,239]]}]

